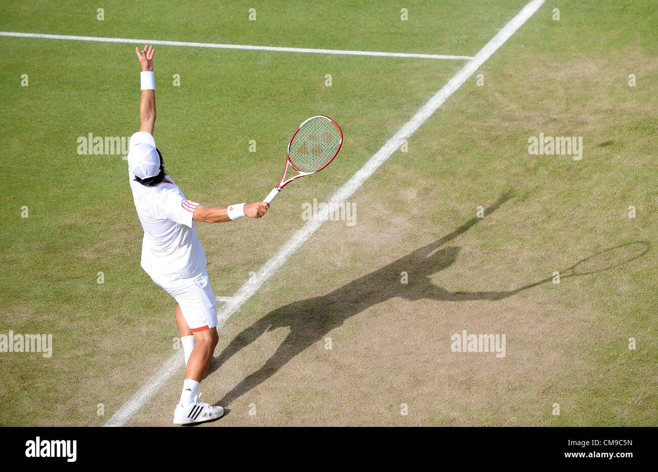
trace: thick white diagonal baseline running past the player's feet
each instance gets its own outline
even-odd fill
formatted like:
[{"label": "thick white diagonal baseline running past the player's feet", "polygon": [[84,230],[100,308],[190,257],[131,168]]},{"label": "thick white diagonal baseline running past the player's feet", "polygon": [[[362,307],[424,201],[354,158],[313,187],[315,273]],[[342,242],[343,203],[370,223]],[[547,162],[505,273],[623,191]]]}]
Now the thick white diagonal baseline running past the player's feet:
[{"label": "thick white diagonal baseline running past the player's feet", "polygon": [[[400,130],[395,133],[393,138],[388,140],[382,148],[377,151],[375,155],[370,157],[370,160],[365,163],[361,169],[352,176],[331,198],[332,203],[340,203],[345,201],[357,188],[365,182],[365,180],[372,175],[372,173],[388,159],[396,149],[398,149],[404,140],[407,140],[427,118],[432,116],[445,100],[452,95],[468,78],[476,71],[489,57],[499,48],[507,39],[509,39],[521,26],[534,14],[539,7],[542,6],[545,0],[532,0],[520,12],[510,20],[509,23],[496,34],[491,41],[489,41],[475,57],[468,61],[457,74],[449,80],[441,90],[439,90],[434,97],[430,99],[425,105],[411,117],[411,120],[406,122]],[[325,210],[330,205],[326,205]],[[319,215],[318,215],[319,216]],[[318,220],[320,218],[318,217]],[[263,283],[274,274],[274,272],[281,267],[298,248],[309,237],[316,232],[322,224],[322,221],[309,221],[303,228],[297,230],[295,234],[284,244],[284,246],[259,269],[256,275],[252,276],[247,282],[232,296],[218,313],[218,326],[221,326],[228,317],[235,313],[242,303],[249,300],[249,298],[256,293],[256,291],[263,285]],[[113,417],[111,417],[105,426],[123,426],[133,415],[139,410],[143,404],[148,402],[151,397],[157,392],[162,384],[168,380],[180,368],[183,362],[183,357],[180,352],[172,355],[163,365],[163,368],[155,374],[151,379],[147,380],[143,387],[141,387],[128,402],[124,404]]]}]

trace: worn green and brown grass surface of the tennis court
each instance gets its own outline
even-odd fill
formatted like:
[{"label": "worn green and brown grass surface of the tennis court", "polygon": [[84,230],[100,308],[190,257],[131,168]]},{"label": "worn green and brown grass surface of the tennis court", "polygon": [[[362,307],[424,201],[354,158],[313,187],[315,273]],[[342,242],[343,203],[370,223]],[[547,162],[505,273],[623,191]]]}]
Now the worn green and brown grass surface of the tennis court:
[{"label": "worn green and brown grass surface of the tennis court", "polygon": [[[286,2],[113,2],[97,21],[97,6],[84,2],[14,2],[0,8],[0,30],[473,55],[524,3],[317,2],[301,11]],[[251,7],[255,22],[247,20]],[[551,20],[555,7],[559,22]],[[656,15],[648,1],[545,4],[476,72],[484,87],[470,78],[411,137],[409,152],[397,151],[350,199],[357,224],[326,223],[222,328],[218,355],[259,319],[282,313],[270,317],[278,328],[205,380],[209,400],[258,371],[282,343],[309,344],[232,399],[234,412],[213,425],[655,425]],[[50,359],[0,353],[0,425],[102,425],[159,369],[177,336],[172,300],[139,268],[126,161],[76,153],[78,136],[137,129],[134,46],[23,38],[0,45],[0,333],[52,333],[54,344]],[[463,65],[156,50],[155,139],[194,201],[263,198],[304,118],[324,113],[345,133],[336,163],[291,184],[263,221],[199,226],[221,296],[303,224],[301,203],[328,199]],[[29,87],[20,86],[21,74]],[[635,88],[628,74],[636,74]],[[582,161],[528,155],[528,137],[539,132],[583,136]],[[432,284],[515,290],[622,242],[645,240],[651,250],[615,271],[499,301],[443,300],[414,285],[411,269],[416,298],[386,277],[368,278],[506,191],[513,197],[505,205],[449,242],[457,258],[428,275]],[[20,217],[23,205],[29,218]],[[636,219],[628,219],[629,205]],[[96,283],[99,271],[104,284]],[[364,276],[372,292],[349,284]],[[382,290],[392,298],[372,303]],[[359,309],[327,302],[332,291]],[[291,302],[299,313],[286,311]],[[449,336],[463,328],[507,333],[507,357],[449,352]],[[315,340],[325,336],[334,340],[330,352]],[[631,336],[636,351],[627,348]],[[168,382],[134,424],[168,424],[163,404],[175,402],[179,383]],[[251,402],[258,417],[245,413]],[[408,417],[399,415],[403,402]],[[550,413],[554,402],[559,417]],[[24,423],[14,411],[35,414]]]}]

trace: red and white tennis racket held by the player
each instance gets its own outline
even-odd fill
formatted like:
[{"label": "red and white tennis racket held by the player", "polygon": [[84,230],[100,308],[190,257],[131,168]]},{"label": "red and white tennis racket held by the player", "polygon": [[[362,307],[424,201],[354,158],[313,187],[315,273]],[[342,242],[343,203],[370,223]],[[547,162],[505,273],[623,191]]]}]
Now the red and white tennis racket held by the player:
[{"label": "red and white tennis racket held by the player", "polygon": [[[316,115],[299,125],[295,134],[288,143],[286,156],[286,169],[279,183],[272,192],[265,197],[265,203],[272,200],[281,192],[281,189],[293,180],[305,175],[320,172],[334,160],[343,144],[343,132],[340,126],[329,117]],[[297,175],[285,180],[288,167],[299,172]]]}]

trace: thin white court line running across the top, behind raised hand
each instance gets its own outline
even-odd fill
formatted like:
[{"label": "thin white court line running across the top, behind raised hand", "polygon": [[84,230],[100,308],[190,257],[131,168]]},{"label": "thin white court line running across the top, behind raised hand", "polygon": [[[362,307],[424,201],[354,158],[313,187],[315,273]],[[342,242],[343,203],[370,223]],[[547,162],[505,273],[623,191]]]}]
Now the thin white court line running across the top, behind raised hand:
[{"label": "thin white court line running across the top, behind raised hand", "polygon": [[246,44],[188,43],[185,41],[160,41],[159,39],[98,38],[96,36],[68,36],[61,34],[16,33],[0,31],[0,36],[16,38],[69,39],[73,41],[97,41],[100,43],[156,44],[164,46],[215,47],[217,49],[251,49],[253,51],[282,51],[286,53],[343,54],[348,56],[416,57],[418,59],[461,59],[470,61],[470,56],[445,54],[381,53],[378,51],[343,51],[342,49],[309,49],[307,47],[250,46]]}]

